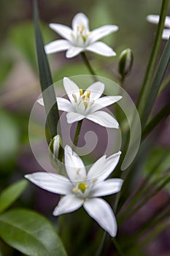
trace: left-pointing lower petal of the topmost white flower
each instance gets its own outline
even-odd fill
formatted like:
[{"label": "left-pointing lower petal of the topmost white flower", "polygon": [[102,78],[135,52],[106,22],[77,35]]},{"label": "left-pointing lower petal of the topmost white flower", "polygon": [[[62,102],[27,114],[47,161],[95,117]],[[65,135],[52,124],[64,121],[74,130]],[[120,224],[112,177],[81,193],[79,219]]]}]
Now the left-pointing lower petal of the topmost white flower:
[{"label": "left-pointing lower petal of the topmost white flower", "polygon": [[70,43],[66,40],[55,40],[53,42],[50,42],[50,44],[45,45],[45,52],[47,54],[50,53],[57,53],[62,50],[67,50],[70,47]]}]

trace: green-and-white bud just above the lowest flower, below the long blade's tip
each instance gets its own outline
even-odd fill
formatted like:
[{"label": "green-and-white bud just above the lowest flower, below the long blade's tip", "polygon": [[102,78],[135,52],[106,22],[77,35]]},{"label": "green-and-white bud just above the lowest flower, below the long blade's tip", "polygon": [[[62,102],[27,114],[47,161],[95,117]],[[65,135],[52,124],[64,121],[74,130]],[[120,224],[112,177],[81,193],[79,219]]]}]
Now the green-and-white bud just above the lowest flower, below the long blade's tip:
[{"label": "green-and-white bud just above the lowest flower, below the long blade's tip", "polygon": [[52,164],[55,165],[58,163],[58,160],[62,162],[63,160],[63,147],[61,136],[56,135],[53,140],[50,141],[49,144],[49,154],[50,159],[52,160]]}]

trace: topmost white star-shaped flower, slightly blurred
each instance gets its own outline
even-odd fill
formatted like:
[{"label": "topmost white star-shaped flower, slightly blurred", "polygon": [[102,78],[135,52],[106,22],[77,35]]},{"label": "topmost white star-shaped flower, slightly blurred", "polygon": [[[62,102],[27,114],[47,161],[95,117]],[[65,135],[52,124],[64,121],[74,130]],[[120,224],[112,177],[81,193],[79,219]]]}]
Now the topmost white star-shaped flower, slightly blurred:
[{"label": "topmost white star-shaped flower, slightly blurred", "polygon": [[117,31],[114,25],[101,26],[89,31],[88,18],[83,13],[77,13],[72,20],[72,29],[68,26],[52,23],[50,28],[56,31],[64,39],[58,39],[45,46],[46,53],[66,51],[66,57],[72,58],[84,50],[92,51],[103,56],[115,56],[116,53],[104,42],[96,42],[98,39]]}]

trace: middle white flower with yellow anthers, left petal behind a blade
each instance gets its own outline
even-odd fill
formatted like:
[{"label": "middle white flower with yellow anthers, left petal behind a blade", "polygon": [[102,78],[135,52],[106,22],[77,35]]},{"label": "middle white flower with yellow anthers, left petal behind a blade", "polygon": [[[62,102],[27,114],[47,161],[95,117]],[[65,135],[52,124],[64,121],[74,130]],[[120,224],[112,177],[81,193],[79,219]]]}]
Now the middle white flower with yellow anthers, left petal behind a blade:
[{"label": "middle white flower with yellow anthers, left petal behind a blade", "polygon": [[[66,115],[69,124],[87,118],[103,127],[118,129],[119,124],[108,113],[98,111],[122,98],[122,96],[101,97],[104,92],[104,83],[93,83],[85,92],[69,78],[63,78],[63,86],[68,99],[57,98],[58,109],[68,112]],[[101,97],[101,98],[100,98]],[[43,99],[38,99],[40,105],[44,105]]]}]

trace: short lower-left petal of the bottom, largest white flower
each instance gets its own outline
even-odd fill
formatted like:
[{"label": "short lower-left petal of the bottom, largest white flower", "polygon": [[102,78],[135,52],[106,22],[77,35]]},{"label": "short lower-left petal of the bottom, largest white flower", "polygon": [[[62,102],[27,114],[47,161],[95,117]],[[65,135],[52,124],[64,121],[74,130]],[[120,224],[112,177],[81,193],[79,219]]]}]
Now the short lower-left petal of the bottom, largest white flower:
[{"label": "short lower-left petal of the bottom, largest white flower", "polygon": [[72,211],[76,211],[78,208],[82,206],[82,200],[75,195],[66,195],[62,197],[58,203],[58,206],[55,207],[53,211],[54,216],[58,216],[60,214],[66,214]]}]

